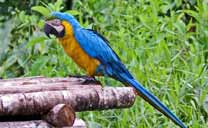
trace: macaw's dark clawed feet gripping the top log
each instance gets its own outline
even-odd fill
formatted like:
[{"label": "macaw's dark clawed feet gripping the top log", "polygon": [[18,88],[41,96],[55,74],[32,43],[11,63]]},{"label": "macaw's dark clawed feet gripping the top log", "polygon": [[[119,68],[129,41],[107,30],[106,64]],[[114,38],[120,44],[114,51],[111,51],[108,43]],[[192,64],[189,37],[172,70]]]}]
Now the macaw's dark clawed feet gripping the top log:
[{"label": "macaw's dark clawed feet gripping the top log", "polygon": [[101,84],[100,81],[96,80],[95,77],[87,76],[87,75],[69,75],[69,77],[81,78],[84,79],[81,84]]}]

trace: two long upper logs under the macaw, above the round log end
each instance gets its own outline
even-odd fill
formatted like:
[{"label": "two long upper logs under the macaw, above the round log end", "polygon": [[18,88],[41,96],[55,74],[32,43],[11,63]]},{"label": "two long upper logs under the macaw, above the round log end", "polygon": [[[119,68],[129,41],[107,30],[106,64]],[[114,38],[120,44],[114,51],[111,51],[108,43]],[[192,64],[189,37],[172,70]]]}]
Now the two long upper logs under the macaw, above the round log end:
[{"label": "two long upper logs under the macaw, above the round log end", "polygon": [[76,112],[133,105],[131,87],[83,85],[82,78],[30,77],[0,80],[0,117],[44,115],[57,104]]}]

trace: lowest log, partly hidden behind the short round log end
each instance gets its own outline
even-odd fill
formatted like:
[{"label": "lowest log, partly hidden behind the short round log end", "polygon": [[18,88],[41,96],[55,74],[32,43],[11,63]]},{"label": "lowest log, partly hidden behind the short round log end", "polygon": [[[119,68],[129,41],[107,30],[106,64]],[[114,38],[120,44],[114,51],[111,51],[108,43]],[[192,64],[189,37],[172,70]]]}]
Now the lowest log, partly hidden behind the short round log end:
[{"label": "lowest log, partly hidden behind the short round log end", "polygon": [[[0,122],[0,128],[54,128],[43,120]],[[86,123],[81,119],[75,119],[73,126],[64,128],[87,128]]]}]

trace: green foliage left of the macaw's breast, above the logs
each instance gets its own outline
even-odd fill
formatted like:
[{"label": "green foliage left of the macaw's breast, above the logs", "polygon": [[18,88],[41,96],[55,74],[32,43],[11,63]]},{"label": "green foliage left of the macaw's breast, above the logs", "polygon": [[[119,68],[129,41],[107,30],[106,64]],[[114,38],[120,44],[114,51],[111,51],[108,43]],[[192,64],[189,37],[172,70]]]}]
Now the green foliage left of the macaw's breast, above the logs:
[{"label": "green foliage left of the macaw's breast, above the logs", "polygon": [[[50,8],[50,11],[55,11],[55,9],[58,11],[63,9],[60,4],[62,1],[59,0],[54,5],[49,3],[48,8],[34,6],[33,9],[44,8],[43,10],[47,10]],[[46,14],[43,10],[40,11]],[[55,76],[58,74],[66,76],[69,70],[76,70],[77,67],[68,66],[72,62],[69,61],[62,48],[57,45],[56,39],[48,39],[43,33],[43,18],[16,9],[13,17],[0,25],[2,25],[0,29],[2,39],[0,42],[1,77]],[[41,66],[38,66],[39,64]]]}]

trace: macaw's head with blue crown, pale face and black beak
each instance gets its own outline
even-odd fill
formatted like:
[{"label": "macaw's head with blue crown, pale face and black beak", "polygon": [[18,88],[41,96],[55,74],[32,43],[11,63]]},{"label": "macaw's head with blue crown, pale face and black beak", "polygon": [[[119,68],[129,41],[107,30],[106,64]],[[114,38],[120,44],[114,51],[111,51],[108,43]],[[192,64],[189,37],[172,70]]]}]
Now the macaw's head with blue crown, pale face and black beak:
[{"label": "macaw's head with blue crown, pale face and black beak", "polygon": [[50,34],[55,35],[58,38],[64,37],[65,27],[62,24],[62,21],[67,21],[73,29],[80,28],[79,22],[70,14],[52,12],[51,16],[55,17],[56,19],[46,21],[44,26],[45,34],[48,37],[50,37]]}]

